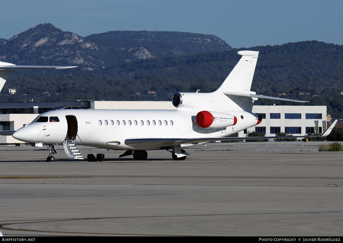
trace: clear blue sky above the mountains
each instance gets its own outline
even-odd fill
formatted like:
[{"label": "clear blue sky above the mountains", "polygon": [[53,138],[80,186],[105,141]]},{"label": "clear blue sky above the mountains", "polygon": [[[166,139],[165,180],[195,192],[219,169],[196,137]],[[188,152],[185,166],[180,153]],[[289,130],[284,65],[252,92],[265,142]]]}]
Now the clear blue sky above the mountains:
[{"label": "clear blue sky above the mountains", "polygon": [[0,0],[0,38],[51,23],[80,36],[110,30],[216,35],[233,48],[305,40],[343,44],[343,1]]}]

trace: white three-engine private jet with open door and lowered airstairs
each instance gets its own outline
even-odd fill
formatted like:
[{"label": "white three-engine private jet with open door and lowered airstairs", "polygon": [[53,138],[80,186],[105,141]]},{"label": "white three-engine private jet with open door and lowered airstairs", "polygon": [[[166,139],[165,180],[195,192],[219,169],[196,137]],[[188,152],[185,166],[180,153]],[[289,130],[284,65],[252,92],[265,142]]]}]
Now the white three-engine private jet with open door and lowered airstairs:
[{"label": "white three-engine private jet with open door and lowered airstairs", "polygon": [[[184,148],[190,146],[216,140],[262,138],[228,136],[261,122],[261,116],[252,113],[253,102],[258,98],[305,101],[257,95],[250,91],[258,53],[239,51],[241,59],[212,93],[174,94],[172,102],[177,110],[52,110],[40,114],[12,136],[23,142],[46,144],[47,161],[55,160],[52,154],[56,153],[56,144],[63,144],[71,158],[83,158],[75,146],[83,144],[126,150],[120,157],[133,154],[135,160],[145,160],[146,150],[160,149],[171,152],[174,160],[184,160],[189,155]],[[320,137],[327,136],[332,127]]]}]

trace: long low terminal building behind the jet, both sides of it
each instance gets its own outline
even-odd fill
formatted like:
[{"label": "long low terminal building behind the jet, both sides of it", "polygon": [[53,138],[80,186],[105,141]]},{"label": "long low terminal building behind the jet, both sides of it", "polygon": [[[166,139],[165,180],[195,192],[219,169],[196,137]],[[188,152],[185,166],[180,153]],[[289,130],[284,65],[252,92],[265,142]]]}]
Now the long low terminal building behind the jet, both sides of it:
[{"label": "long low terminal building behind the jet, both sides of it", "polygon": [[[0,131],[17,130],[31,123],[38,114],[51,109],[139,109],[139,110],[176,110],[170,101],[61,101],[61,102],[9,102],[0,103]],[[238,137],[245,137],[248,132],[306,135],[322,133],[326,129],[326,106],[289,106],[289,105],[255,105],[253,113],[260,114],[260,124],[238,132]],[[0,136],[0,143],[19,143],[12,136]]]}]

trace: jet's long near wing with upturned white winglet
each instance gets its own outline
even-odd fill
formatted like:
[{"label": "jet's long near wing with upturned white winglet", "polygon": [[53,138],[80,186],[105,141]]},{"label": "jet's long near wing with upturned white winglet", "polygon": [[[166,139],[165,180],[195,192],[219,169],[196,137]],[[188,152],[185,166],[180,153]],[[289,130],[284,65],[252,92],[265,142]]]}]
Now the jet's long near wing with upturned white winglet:
[{"label": "jet's long near wing with upturned white winglet", "polygon": [[294,138],[322,138],[326,137],[330,134],[332,128],[335,126],[337,120],[335,120],[331,126],[326,129],[321,135],[319,136],[271,136],[271,137],[227,137],[227,138],[129,138],[125,140],[126,145],[134,145],[134,144],[151,144],[154,146],[161,145],[161,147],[164,146],[175,146],[175,145],[180,145],[180,144],[193,144],[197,145],[198,143],[203,143],[203,142],[214,142],[214,141],[235,141],[235,140],[253,140],[253,139],[282,139],[282,138],[287,138],[287,139],[294,139]]}]

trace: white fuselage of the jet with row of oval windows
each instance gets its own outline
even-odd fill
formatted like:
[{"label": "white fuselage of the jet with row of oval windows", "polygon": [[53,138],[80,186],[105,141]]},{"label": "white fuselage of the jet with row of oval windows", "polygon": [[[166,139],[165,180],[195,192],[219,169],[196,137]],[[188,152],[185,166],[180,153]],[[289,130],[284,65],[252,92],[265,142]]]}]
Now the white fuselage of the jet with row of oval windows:
[{"label": "white fuselage of the jet with row of oval windows", "polygon": [[[13,137],[29,143],[62,144],[70,136],[67,135],[68,131],[74,130],[77,143],[86,146],[116,150],[156,150],[164,147],[164,144],[141,143],[128,146],[125,140],[221,138],[255,126],[258,120],[258,115],[253,113],[227,111],[237,117],[234,126],[207,129],[197,125],[197,113],[185,110],[55,110],[40,114],[38,117],[47,118],[35,119],[17,130]],[[74,125],[67,121],[67,117],[75,118]],[[181,147],[192,145],[184,144]]]}]

